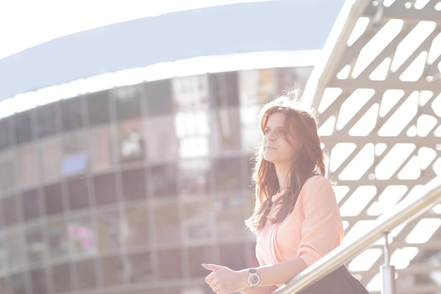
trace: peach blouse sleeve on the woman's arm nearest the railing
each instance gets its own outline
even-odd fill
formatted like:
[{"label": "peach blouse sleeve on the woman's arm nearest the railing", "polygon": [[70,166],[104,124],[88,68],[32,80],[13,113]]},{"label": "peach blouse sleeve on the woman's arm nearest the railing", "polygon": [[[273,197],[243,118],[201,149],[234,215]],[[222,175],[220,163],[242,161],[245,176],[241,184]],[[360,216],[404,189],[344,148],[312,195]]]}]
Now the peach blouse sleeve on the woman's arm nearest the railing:
[{"label": "peach blouse sleeve on the woman's arm nearest the railing", "polygon": [[304,214],[297,257],[310,266],[341,244],[340,209],[330,181],[323,176],[307,180],[297,201]]}]

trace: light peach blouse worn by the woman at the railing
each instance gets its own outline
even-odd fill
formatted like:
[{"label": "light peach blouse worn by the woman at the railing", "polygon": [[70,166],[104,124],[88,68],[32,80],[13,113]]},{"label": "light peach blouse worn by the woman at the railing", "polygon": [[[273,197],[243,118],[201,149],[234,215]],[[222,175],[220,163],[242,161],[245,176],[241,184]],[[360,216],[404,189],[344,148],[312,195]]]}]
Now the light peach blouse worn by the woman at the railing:
[{"label": "light peach blouse worn by the woman at the railing", "polygon": [[[275,216],[278,205],[273,195]],[[306,180],[294,210],[281,223],[266,226],[256,233],[256,257],[261,266],[300,257],[309,267],[342,243],[344,230],[340,209],[330,181],[323,176]]]}]

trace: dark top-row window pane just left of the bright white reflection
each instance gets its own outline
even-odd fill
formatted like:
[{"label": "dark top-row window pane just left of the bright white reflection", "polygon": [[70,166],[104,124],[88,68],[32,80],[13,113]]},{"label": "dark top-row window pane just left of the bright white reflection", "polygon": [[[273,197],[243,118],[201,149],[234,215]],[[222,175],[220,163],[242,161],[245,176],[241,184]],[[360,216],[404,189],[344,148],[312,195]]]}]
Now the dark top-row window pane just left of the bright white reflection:
[{"label": "dark top-row window pane just left of the bright white reflection", "polygon": [[147,116],[171,114],[171,81],[156,80],[145,83],[145,101]]}]

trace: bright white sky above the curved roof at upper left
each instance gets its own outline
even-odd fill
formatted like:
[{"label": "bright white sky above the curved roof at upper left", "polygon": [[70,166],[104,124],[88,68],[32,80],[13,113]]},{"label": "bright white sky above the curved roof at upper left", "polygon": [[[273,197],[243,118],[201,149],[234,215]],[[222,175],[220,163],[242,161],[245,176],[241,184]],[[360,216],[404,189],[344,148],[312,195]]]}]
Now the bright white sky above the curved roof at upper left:
[{"label": "bright white sky above the curved roof at upper left", "polygon": [[111,23],[257,1],[264,0],[0,0],[0,59],[51,39]]}]

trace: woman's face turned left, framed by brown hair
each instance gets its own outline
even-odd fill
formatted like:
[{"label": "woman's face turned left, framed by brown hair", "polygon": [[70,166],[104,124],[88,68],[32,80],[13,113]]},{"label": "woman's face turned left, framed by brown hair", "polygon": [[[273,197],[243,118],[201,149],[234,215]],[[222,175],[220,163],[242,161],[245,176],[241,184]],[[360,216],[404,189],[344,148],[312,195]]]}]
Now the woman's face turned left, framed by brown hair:
[{"label": "woman's face turned left, framed by brown hair", "polygon": [[263,158],[275,165],[290,165],[301,147],[300,142],[285,128],[285,114],[271,114],[262,139]]}]

